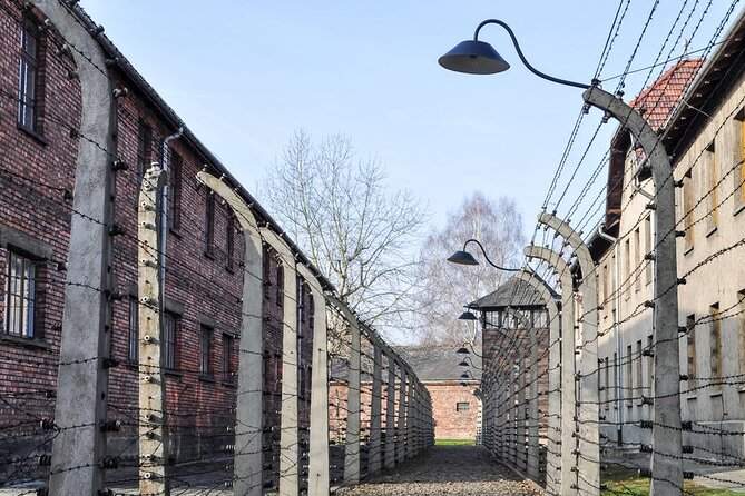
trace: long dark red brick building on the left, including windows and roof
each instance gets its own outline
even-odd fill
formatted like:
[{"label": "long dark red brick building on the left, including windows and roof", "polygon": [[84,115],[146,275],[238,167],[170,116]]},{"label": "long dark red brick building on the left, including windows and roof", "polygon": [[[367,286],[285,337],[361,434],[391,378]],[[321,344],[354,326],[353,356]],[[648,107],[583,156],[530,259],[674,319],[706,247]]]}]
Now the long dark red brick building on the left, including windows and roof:
[{"label": "long dark red brick building on the left, including windows and roof", "polygon": [[[137,208],[145,169],[168,168],[169,196],[163,367],[169,413],[169,453],[177,460],[225,455],[235,423],[238,330],[244,277],[264,280],[264,426],[268,480],[278,476],[278,411],[282,390],[283,266],[265,246],[263,274],[245,270],[244,239],[231,209],[195,176],[207,170],[252,205],[262,226],[282,229],[189,131],[97,24],[75,2],[70,16],[92,32],[108,58],[105,69],[117,89],[116,167],[112,191],[109,291],[110,349],[108,415],[122,423],[109,438],[119,455],[136,449],[138,390]],[[66,271],[76,195],[81,85],[65,40],[36,8],[0,0],[0,462],[12,477],[33,454],[49,450],[62,333],[65,291],[75,281]],[[100,68],[104,70],[104,68]],[[98,143],[102,146],[102,143]],[[104,224],[105,219],[88,219]],[[297,264],[329,282],[292,241]],[[313,297],[298,276],[298,413],[308,424]],[[76,311],[70,309],[70,311]],[[91,357],[92,358],[92,357]],[[32,447],[32,448],[31,448]],[[11,474],[10,476],[7,474]]]}]

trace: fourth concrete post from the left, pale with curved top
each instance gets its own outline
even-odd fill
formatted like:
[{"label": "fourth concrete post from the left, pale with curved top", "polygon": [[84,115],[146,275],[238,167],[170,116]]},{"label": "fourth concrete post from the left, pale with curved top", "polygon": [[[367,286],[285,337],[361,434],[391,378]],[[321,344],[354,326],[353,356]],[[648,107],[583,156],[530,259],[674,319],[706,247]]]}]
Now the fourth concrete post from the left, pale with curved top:
[{"label": "fourth concrete post from the left, pale with curved top", "polygon": [[297,268],[290,246],[273,230],[259,228],[262,237],[280,255],[284,266],[282,315],[282,424],[280,427],[280,495],[300,494],[300,425],[297,418]]}]

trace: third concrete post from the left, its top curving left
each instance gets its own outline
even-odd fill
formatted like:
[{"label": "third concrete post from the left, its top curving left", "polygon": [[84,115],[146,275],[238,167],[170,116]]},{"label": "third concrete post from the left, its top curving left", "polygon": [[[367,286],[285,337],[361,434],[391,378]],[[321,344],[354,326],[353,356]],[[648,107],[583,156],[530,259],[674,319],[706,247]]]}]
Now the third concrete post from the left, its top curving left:
[{"label": "third concrete post from the left, its top curving left", "polygon": [[251,207],[229,185],[205,171],[197,180],[224,199],[235,214],[245,241],[238,385],[235,410],[235,494],[261,495],[263,490],[262,426],[264,423],[263,257],[262,237]]}]

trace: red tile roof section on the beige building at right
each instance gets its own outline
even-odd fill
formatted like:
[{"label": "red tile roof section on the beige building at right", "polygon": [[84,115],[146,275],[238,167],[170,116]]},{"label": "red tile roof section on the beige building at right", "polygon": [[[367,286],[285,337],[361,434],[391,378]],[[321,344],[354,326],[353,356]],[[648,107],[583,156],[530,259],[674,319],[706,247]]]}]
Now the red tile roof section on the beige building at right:
[{"label": "red tile roof section on the beige building at right", "polygon": [[704,59],[680,60],[629,105],[637,110],[646,109],[644,117],[655,131],[663,128],[703,65]]}]

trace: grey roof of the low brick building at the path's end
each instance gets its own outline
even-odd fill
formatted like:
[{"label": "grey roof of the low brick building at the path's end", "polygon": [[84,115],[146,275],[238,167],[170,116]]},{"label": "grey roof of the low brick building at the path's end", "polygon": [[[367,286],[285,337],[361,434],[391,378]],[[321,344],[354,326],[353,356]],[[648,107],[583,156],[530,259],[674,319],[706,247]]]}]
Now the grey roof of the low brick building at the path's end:
[{"label": "grey roof of the low brick building at the path's end", "polygon": [[[400,346],[396,350],[404,360],[411,366],[419,380],[422,383],[435,380],[464,380],[461,374],[470,370],[473,380],[481,380],[481,357],[473,353],[461,355],[458,353],[460,346]],[[480,353],[480,349],[476,349]],[[461,367],[460,364],[465,357],[473,367]]]}]

